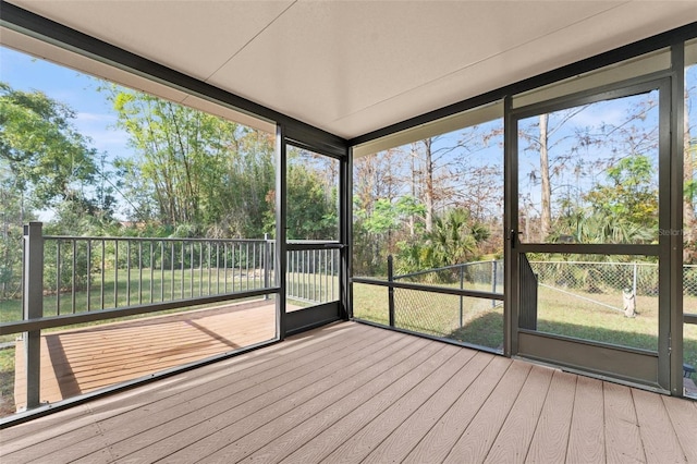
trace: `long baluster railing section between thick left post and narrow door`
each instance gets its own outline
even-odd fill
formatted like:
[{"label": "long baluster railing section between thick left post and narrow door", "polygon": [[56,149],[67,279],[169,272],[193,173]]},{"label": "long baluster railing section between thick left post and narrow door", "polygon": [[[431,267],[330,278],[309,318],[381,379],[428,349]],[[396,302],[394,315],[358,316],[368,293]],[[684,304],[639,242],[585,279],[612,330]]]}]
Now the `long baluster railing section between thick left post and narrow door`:
[{"label": "long baluster railing section between thick left post and narrow door", "polygon": [[272,256],[266,240],[44,236],[44,314],[265,289]]}]

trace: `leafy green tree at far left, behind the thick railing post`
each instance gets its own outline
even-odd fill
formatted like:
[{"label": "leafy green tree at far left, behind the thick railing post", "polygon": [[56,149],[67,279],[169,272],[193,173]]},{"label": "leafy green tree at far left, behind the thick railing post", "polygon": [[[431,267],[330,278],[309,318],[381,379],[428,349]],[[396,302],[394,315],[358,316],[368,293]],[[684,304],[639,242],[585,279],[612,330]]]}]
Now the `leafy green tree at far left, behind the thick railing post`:
[{"label": "leafy green tree at far left, behind the thick railing post", "polygon": [[[71,232],[87,230],[100,208],[91,194],[96,150],[73,125],[75,113],[41,91],[0,83],[0,292],[16,296],[22,269],[22,224],[35,208],[53,207]],[[61,229],[61,228],[59,228]],[[64,229],[61,229],[64,230]]]}]

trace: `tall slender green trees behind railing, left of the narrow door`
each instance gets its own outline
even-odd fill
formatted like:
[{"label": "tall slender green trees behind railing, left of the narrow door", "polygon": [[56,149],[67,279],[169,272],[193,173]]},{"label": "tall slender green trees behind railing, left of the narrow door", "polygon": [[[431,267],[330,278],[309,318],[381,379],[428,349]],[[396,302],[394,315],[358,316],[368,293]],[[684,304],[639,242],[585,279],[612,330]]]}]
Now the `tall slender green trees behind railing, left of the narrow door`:
[{"label": "tall slender green trees behind railing, left of the narrow door", "polygon": [[195,235],[260,236],[274,185],[268,134],[157,97],[109,88],[137,156],[119,160],[133,215]]}]

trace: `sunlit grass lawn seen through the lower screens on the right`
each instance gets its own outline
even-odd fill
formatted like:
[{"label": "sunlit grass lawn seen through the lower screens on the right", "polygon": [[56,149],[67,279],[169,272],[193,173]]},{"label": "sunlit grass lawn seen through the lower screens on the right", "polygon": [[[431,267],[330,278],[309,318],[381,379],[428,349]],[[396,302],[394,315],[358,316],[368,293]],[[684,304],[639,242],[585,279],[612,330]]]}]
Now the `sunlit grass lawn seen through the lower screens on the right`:
[{"label": "sunlit grass lawn seen through the lower screens on the right", "polygon": [[[480,289],[477,289],[480,290]],[[621,306],[621,295],[576,292],[585,298]],[[697,298],[686,296],[686,307]],[[460,297],[413,290],[395,290],[395,325],[438,337],[491,349],[503,344],[503,309],[491,302],[463,298],[463,327],[460,327]],[[500,302],[497,302],[500,303]],[[538,330],[646,350],[658,344],[658,301],[638,296],[637,316],[576,298],[551,289],[538,293]],[[388,291],[383,286],[354,284],[354,316],[389,323]],[[684,325],[684,362],[697,366],[697,326]]]}]

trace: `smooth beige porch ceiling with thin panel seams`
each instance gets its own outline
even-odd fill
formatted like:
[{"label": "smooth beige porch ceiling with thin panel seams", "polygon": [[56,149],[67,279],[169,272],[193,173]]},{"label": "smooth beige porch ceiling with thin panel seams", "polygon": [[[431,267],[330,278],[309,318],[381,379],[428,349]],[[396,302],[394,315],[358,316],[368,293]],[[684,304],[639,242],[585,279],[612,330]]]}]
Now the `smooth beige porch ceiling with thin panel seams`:
[{"label": "smooth beige porch ceiling with thin panel seams", "polygon": [[345,138],[697,21],[677,0],[11,3]]}]

